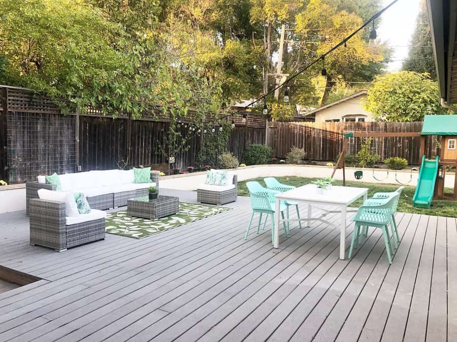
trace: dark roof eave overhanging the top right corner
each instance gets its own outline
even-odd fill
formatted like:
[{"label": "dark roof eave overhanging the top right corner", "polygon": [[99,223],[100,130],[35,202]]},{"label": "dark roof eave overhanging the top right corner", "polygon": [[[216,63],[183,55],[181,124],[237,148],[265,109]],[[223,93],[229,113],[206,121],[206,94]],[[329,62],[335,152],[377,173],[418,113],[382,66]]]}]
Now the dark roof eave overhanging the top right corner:
[{"label": "dark roof eave overhanging the top right corner", "polygon": [[[457,102],[457,2],[427,0],[432,49],[440,97],[448,103]],[[452,70],[454,70],[452,72]]]}]

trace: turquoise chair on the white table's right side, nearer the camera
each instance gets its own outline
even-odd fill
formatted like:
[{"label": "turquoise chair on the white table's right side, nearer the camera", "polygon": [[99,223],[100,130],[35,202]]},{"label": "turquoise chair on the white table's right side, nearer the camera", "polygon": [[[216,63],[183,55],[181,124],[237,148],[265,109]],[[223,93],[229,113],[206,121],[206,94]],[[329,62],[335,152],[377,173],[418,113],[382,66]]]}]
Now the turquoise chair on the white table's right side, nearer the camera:
[{"label": "turquoise chair on the white table's right side, nearer the camera", "polygon": [[[372,201],[367,205],[362,205],[358,208],[355,217],[352,221],[355,222],[354,231],[352,232],[351,247],[349,248],[349,258],[352,256],[352,250],[357,248],[358,240],[360,238],[361,227],[371,226],[377,227],[382,230],[384,237],[385,251],[389,263],[392,263],[392,257],[390,252],[394,252],[390,244],[390,234],[388,231],[388,225],[391,222],[392,214],[394,213],[395,202],[398,201],[399,195],[394,195],[389,198],[377,199],[378,203]],[[395,236],[395,235],[394,235]]]}]

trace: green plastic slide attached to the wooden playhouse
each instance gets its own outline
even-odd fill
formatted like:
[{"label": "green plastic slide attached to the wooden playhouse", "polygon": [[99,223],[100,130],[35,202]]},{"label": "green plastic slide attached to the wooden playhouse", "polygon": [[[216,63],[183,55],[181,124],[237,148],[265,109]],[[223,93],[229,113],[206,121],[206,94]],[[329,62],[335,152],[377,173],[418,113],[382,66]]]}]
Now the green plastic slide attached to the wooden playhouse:
[{"label": "green plastic slide attached to the wooden playhouse", "polygon": [[426,160],[425,156],[422,156],[416,192],[413,197],[413,207],[430,209],[438,174],[438,161],[438,156],[435,160]]}]

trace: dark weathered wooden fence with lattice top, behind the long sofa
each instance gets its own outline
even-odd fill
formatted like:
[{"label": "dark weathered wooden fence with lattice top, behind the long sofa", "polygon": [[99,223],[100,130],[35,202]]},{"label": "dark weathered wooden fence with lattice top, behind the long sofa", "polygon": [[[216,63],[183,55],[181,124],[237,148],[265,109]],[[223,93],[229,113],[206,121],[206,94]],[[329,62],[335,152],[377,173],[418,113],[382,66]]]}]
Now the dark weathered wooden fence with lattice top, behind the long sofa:
[{"label": "dark weathered wooden fence with lattice top, behind the long sofa", "polygon": [[[0,179],[23,182],[40,173],[115,169],[121,160],[129,167],[167,163],[158,145],[169,118],[160,112],[145,113],[140,120],[113,119],[95,109],[62,115],[49,98],[31,90],[0,86],[0,94]],[[265,143],[266,119],[240,113],[234,121],[226,148],[240,159],[245,146]],[[175,168],[198,166],[202,139],[203,134],[190,138],[190,148],[176,157]]]}]

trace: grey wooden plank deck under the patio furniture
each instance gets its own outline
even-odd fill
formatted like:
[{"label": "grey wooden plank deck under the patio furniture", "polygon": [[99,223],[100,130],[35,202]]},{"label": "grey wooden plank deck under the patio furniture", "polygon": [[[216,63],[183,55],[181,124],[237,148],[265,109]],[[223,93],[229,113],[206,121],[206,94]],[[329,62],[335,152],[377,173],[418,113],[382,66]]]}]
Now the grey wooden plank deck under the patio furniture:
[{"label": "grey wooden plank deck under the patio furniture", "polygon": [[0,294],[0,341],[457,340],[454,218],[398,213],[389,266],[379,231],[350,261],[319,223],[281,231],[275,250],[269,229],[243,240],[248,198],[229,206],[63,253],[28,245],[24,213],[0,215],[0,265],[43,279]]}]

